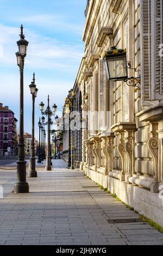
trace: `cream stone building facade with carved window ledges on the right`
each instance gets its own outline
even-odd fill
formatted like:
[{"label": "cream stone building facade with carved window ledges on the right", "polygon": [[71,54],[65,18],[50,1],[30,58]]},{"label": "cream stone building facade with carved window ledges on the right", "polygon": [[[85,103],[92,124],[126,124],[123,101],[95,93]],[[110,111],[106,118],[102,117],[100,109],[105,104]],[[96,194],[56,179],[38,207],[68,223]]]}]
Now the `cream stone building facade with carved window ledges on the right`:
[{"label": "cream stone building facade with carved window ledges on the right", "polygon": [[[163,225],[162,0],[87,2],[85,55],[76,80],[83,115],[80,169]],[[140,70],[129,69],[128,76],[141,75],[141,90],[108,82],[103,56],[111,46],[126,49]]]}]

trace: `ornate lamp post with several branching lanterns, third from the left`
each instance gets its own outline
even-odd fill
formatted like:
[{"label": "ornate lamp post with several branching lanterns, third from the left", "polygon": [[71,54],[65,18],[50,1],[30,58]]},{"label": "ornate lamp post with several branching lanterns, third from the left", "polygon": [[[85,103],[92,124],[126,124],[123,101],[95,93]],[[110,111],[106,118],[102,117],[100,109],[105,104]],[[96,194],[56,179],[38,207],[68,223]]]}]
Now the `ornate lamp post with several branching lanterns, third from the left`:
[{"label": "ornate lamp post with several branching lanterns, third from the left", "polygon": [[45,111],[43,102],[40,103],[40,110],[43,115],[46,115],[48,117],[48,121],[45,125],[48,126],[48,145],[47,145],[47,156],[46,156],[46,170],[52,170],[51,166],[51,116],[53,113],[55,114],[57,112],[57,106],[54,104],[52,106],[53,112],[51,111],[51,108],[49,107],[49,95],[48,95],[48,106]]}]

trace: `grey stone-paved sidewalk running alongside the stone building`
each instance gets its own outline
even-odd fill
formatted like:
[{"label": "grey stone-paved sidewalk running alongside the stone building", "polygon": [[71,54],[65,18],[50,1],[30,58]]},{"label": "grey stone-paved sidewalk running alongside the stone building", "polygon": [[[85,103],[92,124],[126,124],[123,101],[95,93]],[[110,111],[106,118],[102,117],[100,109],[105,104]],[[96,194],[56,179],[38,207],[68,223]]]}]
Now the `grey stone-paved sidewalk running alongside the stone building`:
[{"label": "grey stone-paved sidewalk running alongside the stone building", "polygon": [[[163,234],[83,172],[53,164],[28,179],[30,193],[0,199],[0,245],[163,245]],[[0,175],[1,185],[11,184],[16,171]]]}]

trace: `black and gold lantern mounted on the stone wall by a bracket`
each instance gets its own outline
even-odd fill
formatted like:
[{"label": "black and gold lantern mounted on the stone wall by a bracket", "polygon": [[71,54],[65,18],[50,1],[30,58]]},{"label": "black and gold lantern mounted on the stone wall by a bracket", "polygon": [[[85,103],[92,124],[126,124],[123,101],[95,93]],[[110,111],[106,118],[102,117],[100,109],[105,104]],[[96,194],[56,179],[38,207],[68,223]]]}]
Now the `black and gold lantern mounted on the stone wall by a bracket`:
[{"label": "black and gold lantern mounted on the stone wall by a bracket", "polygon": [[137,84],[140,84],[140,77],[128,77],[128,69],[131,68],[131,62],[127,62],[126,49],[117,49],[112,46],[109,51],[105,52],[103,57],[106,76],[108,81],[124,81],[128,86],[136,87],[135,92],[140,90]]}]

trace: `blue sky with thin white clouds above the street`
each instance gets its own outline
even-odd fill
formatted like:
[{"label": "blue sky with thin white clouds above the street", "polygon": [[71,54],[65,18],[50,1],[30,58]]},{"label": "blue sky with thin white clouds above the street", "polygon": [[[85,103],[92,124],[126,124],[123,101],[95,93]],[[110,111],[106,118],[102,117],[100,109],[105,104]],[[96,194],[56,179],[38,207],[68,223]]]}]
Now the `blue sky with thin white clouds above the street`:
[{"label": "blue sky with thin white clouds above the street", "polygon": [[56,103],[58,114],[76,80],[84,56],[82,34],[86,0],[0,0],[0,102],[19,117],[20,74],[16,65],[16,41],[20,26],[29,41],[24,66],[24,131],[31,132],[32,96],[29,84],[35,72],[39,89],[35,102],[35,137],[39,103]]}]

